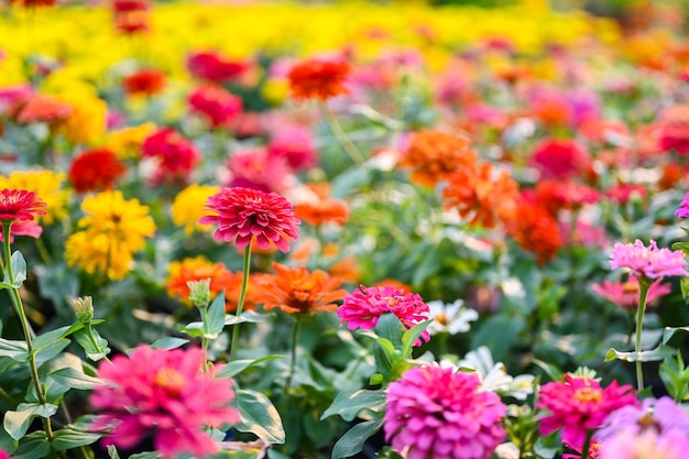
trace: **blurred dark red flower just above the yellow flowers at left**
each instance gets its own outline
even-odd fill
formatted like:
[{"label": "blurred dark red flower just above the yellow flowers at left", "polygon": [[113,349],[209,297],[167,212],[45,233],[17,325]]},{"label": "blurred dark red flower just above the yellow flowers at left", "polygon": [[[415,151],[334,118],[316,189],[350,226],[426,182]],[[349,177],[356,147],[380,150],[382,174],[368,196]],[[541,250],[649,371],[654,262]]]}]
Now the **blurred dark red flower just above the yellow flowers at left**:
[{"label": "blurred dark red flower just above the yellow flowers at left", "polygon": [[77,193],[112,189],[127,167],[109,150],[88,150],[75,157],[69,167],[69,179]]}]

